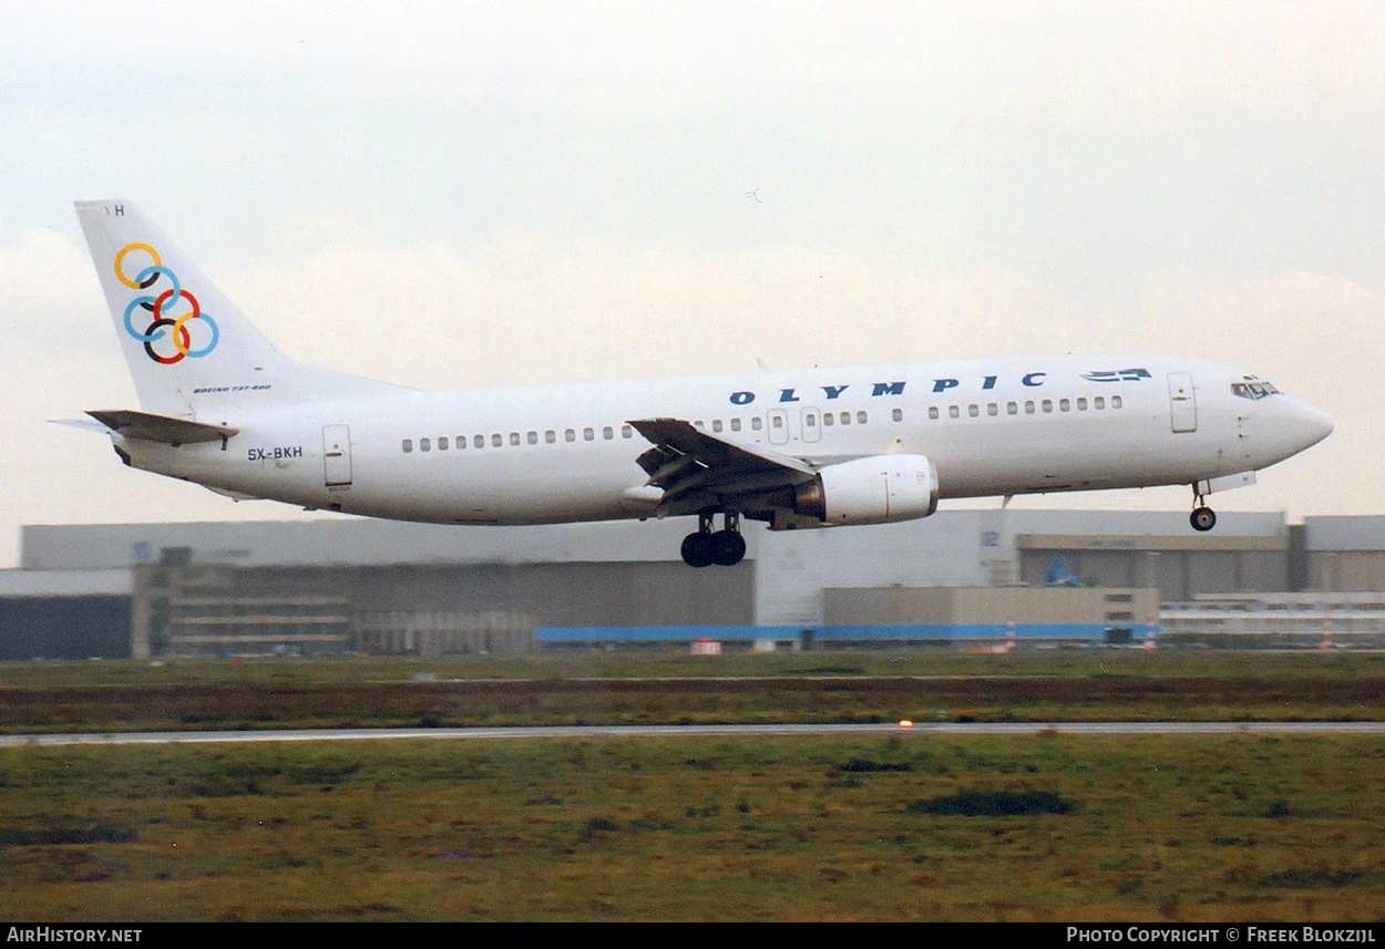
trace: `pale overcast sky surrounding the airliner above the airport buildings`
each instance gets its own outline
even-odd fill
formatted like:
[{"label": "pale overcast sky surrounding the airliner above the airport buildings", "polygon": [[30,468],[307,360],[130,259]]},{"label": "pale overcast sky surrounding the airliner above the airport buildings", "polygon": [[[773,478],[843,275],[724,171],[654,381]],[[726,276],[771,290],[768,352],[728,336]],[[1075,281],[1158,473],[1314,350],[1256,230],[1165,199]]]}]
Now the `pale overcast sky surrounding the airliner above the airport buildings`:
[{"label": "pale overcast sky surrounding the airliner above the airport buildings", "polygon": [[1382,174],[1379,3],[0,4],[0,566],[24,523],[296,516],[46,422],[137,405],[75,199],[422,387],[1228,362],[1337,419],[1216,498],[1298,519],[1381,512]]}]

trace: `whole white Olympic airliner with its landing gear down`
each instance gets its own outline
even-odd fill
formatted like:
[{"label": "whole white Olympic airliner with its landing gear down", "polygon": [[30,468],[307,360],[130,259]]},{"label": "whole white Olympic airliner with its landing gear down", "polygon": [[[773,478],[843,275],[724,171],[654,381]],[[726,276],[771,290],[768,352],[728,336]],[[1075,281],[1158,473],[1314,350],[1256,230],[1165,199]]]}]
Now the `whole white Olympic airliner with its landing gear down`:
[{"label": "whole white Olympic airliner with its landing gear down", "polygon": [[[695,516],[695,567],[770,530],[927,517],[940,498],[1192,487],[1327,437],[1269,382],[1064,356],[417,391],[283,357],[129,201],[76,205],[140,397],[90,415],[133,468],[233,498],[447,524]],[[720,530],[715,519],[722,517]]]}]

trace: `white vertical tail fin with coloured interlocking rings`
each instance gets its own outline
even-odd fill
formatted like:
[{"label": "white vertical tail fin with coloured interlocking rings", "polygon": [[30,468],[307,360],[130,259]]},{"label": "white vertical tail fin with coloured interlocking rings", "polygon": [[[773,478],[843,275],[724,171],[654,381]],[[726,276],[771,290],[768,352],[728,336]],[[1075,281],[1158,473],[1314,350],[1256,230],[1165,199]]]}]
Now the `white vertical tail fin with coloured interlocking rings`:
[{"label": "white vertical tail fin with coloured interlocking rings", "polygon": [[284,357],[132,202],[79,201],[76,210],[147,412],[220,418],[399,390]]}]

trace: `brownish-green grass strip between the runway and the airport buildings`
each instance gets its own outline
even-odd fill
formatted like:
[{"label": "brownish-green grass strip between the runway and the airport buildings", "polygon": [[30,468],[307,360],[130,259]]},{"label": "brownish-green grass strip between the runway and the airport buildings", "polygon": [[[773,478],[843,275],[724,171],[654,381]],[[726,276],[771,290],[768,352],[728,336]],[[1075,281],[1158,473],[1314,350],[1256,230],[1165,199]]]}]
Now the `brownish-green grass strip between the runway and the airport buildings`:
[{"label": "brownish-green grass strip between the runway and the airport buildings", "polygon": [[22,664],[0,732],[915,721],[1379,721],[1385,656],[673,654]]}]

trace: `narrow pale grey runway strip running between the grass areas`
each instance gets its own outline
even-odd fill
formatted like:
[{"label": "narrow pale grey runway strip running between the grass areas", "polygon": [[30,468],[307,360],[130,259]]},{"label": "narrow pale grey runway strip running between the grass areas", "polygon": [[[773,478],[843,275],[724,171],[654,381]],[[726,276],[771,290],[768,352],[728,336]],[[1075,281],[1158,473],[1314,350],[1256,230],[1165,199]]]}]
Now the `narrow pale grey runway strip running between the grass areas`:
[{"label": "narrow pale grey runway strip running between the grass areas", "polygon": [[554,725],[533,728],[357,728],[227,732],[105,732],[6,735],[0,748],[66,744],[216,744],[235,741],[379,741],[514,739],[648,739],[776,736],[1148,736],[1148,735],[1385,735],[1385,722],[915,722],[873,725]]}]

